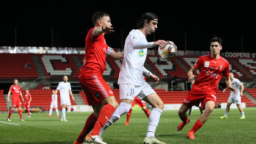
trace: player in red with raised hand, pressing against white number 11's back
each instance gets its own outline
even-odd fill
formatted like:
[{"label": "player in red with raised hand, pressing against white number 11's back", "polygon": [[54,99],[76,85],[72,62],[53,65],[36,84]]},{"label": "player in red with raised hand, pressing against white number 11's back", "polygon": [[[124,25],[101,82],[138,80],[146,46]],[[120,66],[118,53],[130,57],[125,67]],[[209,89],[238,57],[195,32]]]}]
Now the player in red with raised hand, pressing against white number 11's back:
[{"label": "player in red with raised hand, pressing against white number 11's back", "polygon": [[114,32],[109,14],[98,11],[94,13],[92,19],[95,27],[88,31],[85,39],[85,62],[80,69],[79,83],[94,112],[87,118],[74,144],[83,143],[85,136],[91,130],[87,139],[93,143],[106,144],[98,135],[102,126],[118,107],[114,94],[102,75],[106,68],[106,57],[122,59],[124,53],[116,53],[106,44],[104,34]]}]

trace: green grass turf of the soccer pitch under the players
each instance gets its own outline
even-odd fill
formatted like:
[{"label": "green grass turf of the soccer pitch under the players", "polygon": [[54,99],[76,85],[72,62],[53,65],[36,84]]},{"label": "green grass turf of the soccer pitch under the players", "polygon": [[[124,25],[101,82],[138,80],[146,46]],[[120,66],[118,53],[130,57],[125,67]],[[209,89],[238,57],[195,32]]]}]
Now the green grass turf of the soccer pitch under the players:
[{"label": "green grass turf of the soccer pitch under the players", "polygon": [[[241,120],[238,109],[230,109],[228,119],[220,119],[224,109],[214,109],[209,120],[195,133],[195,140],[186,138],[200,115],[199,110],[191,112],[190,123],[181,131],[176,127],[181,122],[178,111],[163,111],[156,131],[159,139],[167,144],[255,144],[256,108],[246,108],[245,119]],[[69,122],[59,117],[46,117],[48,113],[32,113],[25,122],[19,121],[19,114],[11,116],[11,122],[20,126],[0,123],[0,144],[73,144],[90,113],[67,113]],[[60,113],[61,114],[61,113]],[[0,121],[7,121],[8,114],[0,114]],[[148,118],[143,111],[133,111],[130,124],[124,126],[126,114],[102,135],[108,144],[142,144],[147,133]]]}]

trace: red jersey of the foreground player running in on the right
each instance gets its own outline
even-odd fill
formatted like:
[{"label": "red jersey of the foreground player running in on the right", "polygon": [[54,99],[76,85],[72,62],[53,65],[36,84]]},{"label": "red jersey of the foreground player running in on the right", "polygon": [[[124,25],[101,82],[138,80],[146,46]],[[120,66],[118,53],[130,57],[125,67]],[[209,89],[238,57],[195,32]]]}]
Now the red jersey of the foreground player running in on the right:
[{"label": "red jersey of the foreground player running in on the right", "polygon": [[210,55],[204,55],[197,59],[194,67],[200,70],[197,81],[193,84],[192,92],[217,94],[217,85],[222,76],[230,76],[229,63],[223,57],[215,59]]}]

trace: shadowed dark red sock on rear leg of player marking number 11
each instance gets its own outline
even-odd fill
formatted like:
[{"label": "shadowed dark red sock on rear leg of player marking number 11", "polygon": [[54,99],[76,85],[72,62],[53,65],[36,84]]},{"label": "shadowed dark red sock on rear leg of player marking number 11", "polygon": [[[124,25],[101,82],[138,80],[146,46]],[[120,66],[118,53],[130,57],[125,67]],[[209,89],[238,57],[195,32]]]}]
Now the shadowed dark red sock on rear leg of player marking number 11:
[{"label": "shadowed dark red sock on rear leg of player marking number 11", "polygon": [[83,127],[83,130],[79,134],[78,138],[76,139],[77,142],[83,143],[85,136],[93,129],[95,123],[97,121],[97,118],[92,113],[86,120],[85,125]]}]

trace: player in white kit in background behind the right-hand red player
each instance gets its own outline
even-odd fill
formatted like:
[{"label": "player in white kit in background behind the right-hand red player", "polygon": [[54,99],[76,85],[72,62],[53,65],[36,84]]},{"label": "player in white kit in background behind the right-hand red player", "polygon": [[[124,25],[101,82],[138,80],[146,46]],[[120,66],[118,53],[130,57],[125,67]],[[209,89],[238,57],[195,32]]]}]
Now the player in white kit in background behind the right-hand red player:
[{"label": "player in white kit in background behind the right-hand red player", "polygon": [[[237,108],[239,109],[240,113],[241,113],[241,118],[240,119],[245,119],[245,113],[243,112],[243,108],[241,107],[241,97],[243,96],[243,83],[241,83],[241,81],[239,81],[239,79],[234,78],[234,74],[232,72],[230,72],[230,79],[232,81],[232,87],[234,87],[237,91],[236,94],[234,94],[234,92],[230,91],[230,96],[228,98],[228,104],[226,107],[226,111],[224,116],[221,116],[221,119],[224,118],[228,118],[228,112],[230,110],[230,105],[232,103],[236,103]],[[239,90],[239,87],[241,87],[241,89]],[[228,90],[228,88],[225,88],[223,90],[223,92],[225,92],[226,90]]]}]

